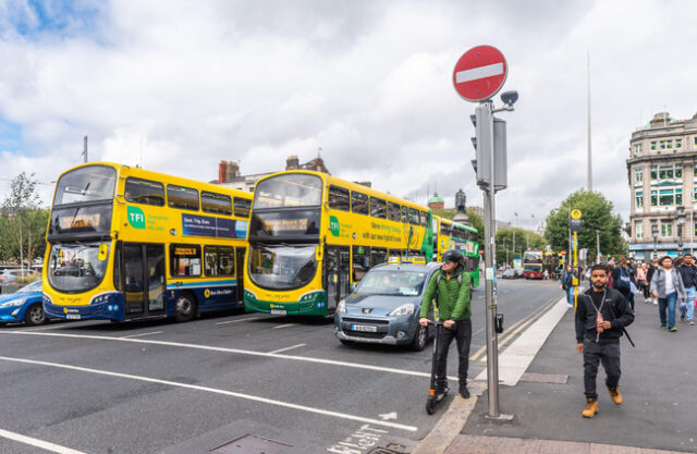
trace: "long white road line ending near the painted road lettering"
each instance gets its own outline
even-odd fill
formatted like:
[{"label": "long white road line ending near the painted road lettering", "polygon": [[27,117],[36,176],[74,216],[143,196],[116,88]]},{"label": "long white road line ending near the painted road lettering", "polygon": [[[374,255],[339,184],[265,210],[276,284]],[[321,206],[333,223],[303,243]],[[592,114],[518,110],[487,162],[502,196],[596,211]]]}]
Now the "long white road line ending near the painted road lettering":
[{"label": "long white road line ending near the painted road lettering", "polygon": [[297,410],[301,410],[301,412],[314,413],[314,414],[317,414],[317,415],[333,416],[334,418],[350,419],[350,420],[353,420],[353,421],[368,422],[368,424],[376,425],[376,426],[383,426],[383,427],[390,427],[390,428],[393,428],[393,429],[406,430],[406,431],[409,431],[409,432],[415,432],[416,430],[418,430],[418,428],[414,427],[414,426],[406,426],[406,425],[401,425],[401,424],[396,424],[396,422],[388,422],[388,421],[383,421],[383,420],[380,420],[380,419],[364,418],[363,416],[348,415],[346,413],[330,412],[330,410],[326,410],[326,409],[321,409],[321,408],[308,407],[308,406],[305,406],[305,405],[291,404],[290,402],[276,401],[276,400],[272,400],[272,398],[259,397],[259,396],[250,395],[250,394],[235,393],[235,392],[232,392],[232,391],[220,390],[218,388],[200,386],[200,385],[197,385],[197,384],[180,383],[180,382],[176,382],[176,381],[160,380],[160,379],[155,379],[155,378],[150,378],[150,377],[132,376],[130,373],[111,372],[109,370],[89,369],[89,368],[86,368],[86,367],[69,366],[69,365],[58,364],[58,363],[38,361],[38,360],[34,360],[34,359],[11,358],[11,357],[8,357],[8,356],[0,356],[0,359],[5,360],[5,361],[12,361],[12,363],[24,363],[24,364],[32,364],[32,365],[38,365],[38,366],[56,367],[56,368],[60,368],[60,369],[77,370],[80,372],[97,373],[97,375],[101,375],[101,376],[124,378],[124,379],[130,379],[130,380],[139,380],[139,381],[146,381],[146,382],[150,382],[150,383],[167,384],[167,385],[170,385],[170,386],[185,388],[185,389],[189,389],[189,390],[204,391],[204,392],[215,393],[215,394],[222,394],[222,395],[228,395],[228,396],[231,396],[231,397],[244,398],[244,400],[247,400],[247,401],[260,402],[260,403],[264,403],[264,404],[277,405],[277,406],[281,406],[281,407],[285,407],[285,408],[293,408],[293,409],[297,409]]}]

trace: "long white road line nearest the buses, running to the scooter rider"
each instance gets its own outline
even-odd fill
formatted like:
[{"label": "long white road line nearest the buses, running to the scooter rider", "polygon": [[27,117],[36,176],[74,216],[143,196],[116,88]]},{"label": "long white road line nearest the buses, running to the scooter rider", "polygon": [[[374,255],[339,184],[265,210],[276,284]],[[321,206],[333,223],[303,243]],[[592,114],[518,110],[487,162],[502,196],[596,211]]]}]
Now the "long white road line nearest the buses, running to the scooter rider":
[{"label": "long white road line nearest the buses, running to the scooter rider", "polygon": [[[344,363],[344,361],[338,361],[333,359],[310,358],[307,356],[280,355],[274,353],[254,352],[248,349],[213,347],[210,345],[183,344],[180,342],[150,341],[145,339],[124,339],[124,338],[94,335],[94,334],[63,334],[63,333],[53,333],[53,332],[37,333],[37,332],[28,332],[28,331],[20,331],[20,330],[16,330],[16,331],[0,330],[0,335],[1,334],[39,335],[39,336],[69,338],[69,339],[90,339],[90,340],[97,340],[97,341],[111,341],[111,342],[134,342],[138,344],[163,345],[163,346],[170,346],[170,347],[205,349],[209,352],[234,353],[237,355],[262,356],[267,358],[278,358],[278,359],[291,359],[294,361],[316,363],[316,364],[330,365],[330,366],[350,367],[354,369],[375,370],[378,372],[399,373],[402,376],[428,377],[428,378],[430,378],[431,376],[430,372],[417,372],[415,370],[393,369],[390,367],[380,367],[380,366],[371,366],[371,365],[355,364],[355,363]],[[456,377],[451,377],[451,376],[449,376],[448,379],[457,380]]]}]

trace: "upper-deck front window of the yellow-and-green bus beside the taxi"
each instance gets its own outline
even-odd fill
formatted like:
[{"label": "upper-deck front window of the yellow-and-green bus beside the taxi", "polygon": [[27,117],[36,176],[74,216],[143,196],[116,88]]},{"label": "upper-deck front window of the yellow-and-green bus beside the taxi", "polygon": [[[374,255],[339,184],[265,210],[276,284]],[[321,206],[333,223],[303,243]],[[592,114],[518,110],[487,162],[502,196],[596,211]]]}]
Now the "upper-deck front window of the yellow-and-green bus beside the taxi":
[{"label": "upper-deck front window of the yellow-and-green bus beside the taxi", "polygon": [[318,207],[322,201],[322,180],[306,173],[286,173],[257,183],[254,209]]}]

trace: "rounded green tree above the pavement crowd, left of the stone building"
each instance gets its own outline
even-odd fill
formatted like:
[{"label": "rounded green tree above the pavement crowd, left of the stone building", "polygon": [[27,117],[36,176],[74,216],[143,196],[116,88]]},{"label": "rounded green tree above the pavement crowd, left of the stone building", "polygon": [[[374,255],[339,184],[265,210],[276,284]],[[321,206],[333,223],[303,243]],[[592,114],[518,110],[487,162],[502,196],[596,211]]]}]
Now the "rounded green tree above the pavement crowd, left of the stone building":
[{"label": "rounded green tree above the pavement crowd, left of the stone building", "polygon": [[568,218],[572,209],[583,213],[583,228],[578,233],[578,248],[588,249],[588,260],[595,261],[596,231],[600,234],[600,251],[603,256],[626,254],[622,242],[622,218],[613,214],[613,205],[600,193],[577,191],[547,216],[545,236],[554,250],[568,249]]}]

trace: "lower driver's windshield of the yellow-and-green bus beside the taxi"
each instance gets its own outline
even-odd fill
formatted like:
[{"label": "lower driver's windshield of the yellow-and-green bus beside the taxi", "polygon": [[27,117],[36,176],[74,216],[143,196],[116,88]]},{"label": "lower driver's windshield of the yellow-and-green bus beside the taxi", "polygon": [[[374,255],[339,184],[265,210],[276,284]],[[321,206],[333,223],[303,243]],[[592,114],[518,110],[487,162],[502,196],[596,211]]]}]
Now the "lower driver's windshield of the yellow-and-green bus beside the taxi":
[{"label": "lower driver's windshield of the yellow-and-green bus beside the taxi", "polygon": [[309,283],[316,272],[314,245],[249,245],[249,278],[261,287],[297,289]]}]

